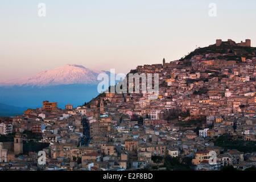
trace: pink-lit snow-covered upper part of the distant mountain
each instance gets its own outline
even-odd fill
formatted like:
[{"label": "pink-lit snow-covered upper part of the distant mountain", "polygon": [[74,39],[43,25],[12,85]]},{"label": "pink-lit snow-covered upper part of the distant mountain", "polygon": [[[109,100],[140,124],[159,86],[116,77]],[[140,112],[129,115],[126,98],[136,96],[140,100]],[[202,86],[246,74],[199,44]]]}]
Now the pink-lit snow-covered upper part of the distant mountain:
[{"label": "pink-lit snow-covered upper part of the distant mountain", "polygon": [[63,67],[44,71],[32,77],[1,82],[5,86],[54,86],[71,84],[97,84],[97,76],[105,71],[94,71],[82,65],[67,64]]}]

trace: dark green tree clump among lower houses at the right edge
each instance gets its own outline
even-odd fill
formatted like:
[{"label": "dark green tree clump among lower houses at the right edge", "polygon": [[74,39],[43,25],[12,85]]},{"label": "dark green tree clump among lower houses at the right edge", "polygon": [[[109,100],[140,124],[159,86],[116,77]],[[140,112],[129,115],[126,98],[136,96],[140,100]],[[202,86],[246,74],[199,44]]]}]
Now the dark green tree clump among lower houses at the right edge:
[{"label": "dark green tree clump among lower houses at the right edge", "polygon": [[240,152],[256,152],[256,142],[255,141],[245,141],[233,139],[233,137],[229,134],[221,135],[214,142],[214,145],[224,148],[224,150],[228,149],[236,149]]}]

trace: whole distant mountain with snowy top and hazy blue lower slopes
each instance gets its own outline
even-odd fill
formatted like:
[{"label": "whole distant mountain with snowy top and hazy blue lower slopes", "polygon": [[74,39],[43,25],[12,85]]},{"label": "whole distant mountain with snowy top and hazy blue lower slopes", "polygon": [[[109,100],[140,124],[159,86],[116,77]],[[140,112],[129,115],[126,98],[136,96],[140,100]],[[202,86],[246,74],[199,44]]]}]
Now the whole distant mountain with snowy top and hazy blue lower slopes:
[{"label": "whole distant mountain with snowy top and hazy blue lower slopes", "polygon": [[[57,102],[60,108],[66,104],[79,106],[98,94],[97,77],[107,71],[95,71],[82,65],[67,64],[59,68],[43,71],[35,76],[0,82],[0,103],[12,105],[0,107],[0,115],[15,115],[23,112],[17,107],[36,108],[42,101]],[[14,108],[11,111],[11,108]]]}]

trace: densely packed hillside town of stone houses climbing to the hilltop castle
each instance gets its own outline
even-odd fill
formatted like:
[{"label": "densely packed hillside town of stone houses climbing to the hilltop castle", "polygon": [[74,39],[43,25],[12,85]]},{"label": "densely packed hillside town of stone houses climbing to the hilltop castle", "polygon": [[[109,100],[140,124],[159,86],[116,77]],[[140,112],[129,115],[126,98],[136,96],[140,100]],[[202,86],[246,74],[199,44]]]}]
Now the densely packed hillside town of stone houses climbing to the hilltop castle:
[{"label": "densely packed hillside town of stone houses climbing to the hilltop castle", "polygon": [[218,39],[180,60],[139,65],[131,73],[158,73],[158,98],[101,93],[78,107],[43,101],[0,118],[0,170],[256,166],[256,48],[249,39]]}]

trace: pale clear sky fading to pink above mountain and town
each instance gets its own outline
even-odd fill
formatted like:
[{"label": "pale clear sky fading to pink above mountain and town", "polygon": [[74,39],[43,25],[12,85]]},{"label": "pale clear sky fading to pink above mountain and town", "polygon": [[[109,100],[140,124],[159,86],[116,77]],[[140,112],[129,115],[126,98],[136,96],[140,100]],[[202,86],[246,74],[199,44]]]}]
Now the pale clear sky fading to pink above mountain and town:
[{"label": "pale clear sky fading to pink above mountain and town", "polygon": [[256,47],[255,19],[255,0],[1,0],[0,81],[64,64],[127,73],[216,39]]}]

